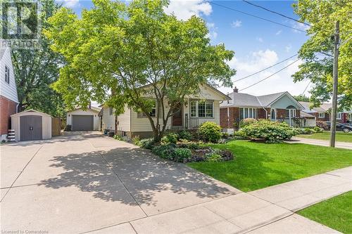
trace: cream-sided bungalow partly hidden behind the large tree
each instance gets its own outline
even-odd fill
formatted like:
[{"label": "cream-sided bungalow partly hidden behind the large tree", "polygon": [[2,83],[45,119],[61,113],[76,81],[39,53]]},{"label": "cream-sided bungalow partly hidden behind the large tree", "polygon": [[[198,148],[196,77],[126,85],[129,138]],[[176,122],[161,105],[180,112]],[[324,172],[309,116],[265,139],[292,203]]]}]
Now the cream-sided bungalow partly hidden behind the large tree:
[{"label": "cream-sided bungalow partly hidden behind the large tree", "polygon": [[[147,86],[145,86],[147,87]],[[208,84],[201,85],[200,93],[196,96],[189,96],[184,103],[168,119],[167,129],[194,129],[203,122],[215,122],[220,124],[220,103],[230,99],[224,93],[218,91]],[[165,100],[165,112],[168,112],[168,100]],[[106,108],[108,110],[108,108]],[[155,104],[151,115],[156,118],[158,105]],[[103,112],[106,115],[106,111]],[[110,115],[109,115],[110,116]],[[108,121],[109,123],[111,120]],[[109,126],[108,124],[104,126]],[[125,106],[125,112],[117,116],[116,134],[133,138],[141,138],[153,135],[149,119],[143,114]]]}]

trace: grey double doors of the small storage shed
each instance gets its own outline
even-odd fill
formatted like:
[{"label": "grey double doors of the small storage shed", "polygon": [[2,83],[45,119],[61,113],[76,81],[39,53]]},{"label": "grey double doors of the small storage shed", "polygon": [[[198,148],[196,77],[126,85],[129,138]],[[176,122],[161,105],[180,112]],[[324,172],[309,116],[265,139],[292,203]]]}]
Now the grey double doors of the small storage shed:
[{"label": "grey double doors of the small storage shed", "polygon": [[42,116],[25,115],[20,117],[20,140],[42,140]]}]

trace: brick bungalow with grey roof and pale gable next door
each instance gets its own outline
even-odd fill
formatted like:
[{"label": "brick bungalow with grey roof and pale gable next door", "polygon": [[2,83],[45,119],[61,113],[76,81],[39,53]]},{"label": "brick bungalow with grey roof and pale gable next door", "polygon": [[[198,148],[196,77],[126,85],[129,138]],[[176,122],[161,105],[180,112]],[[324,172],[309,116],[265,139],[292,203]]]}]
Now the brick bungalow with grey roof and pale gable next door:
[{"label": "brick bungalow with grey roof and pale gable next door", "polygon": [[220,126],[223,129],[236,129],[241,119],[246,118],[282,121],[290,126],[315,126],[313,116],[301,117],[303,106],[288,92],[253,96],[239,93],[235,87],[229,96],[231,100],[220,104]]}]

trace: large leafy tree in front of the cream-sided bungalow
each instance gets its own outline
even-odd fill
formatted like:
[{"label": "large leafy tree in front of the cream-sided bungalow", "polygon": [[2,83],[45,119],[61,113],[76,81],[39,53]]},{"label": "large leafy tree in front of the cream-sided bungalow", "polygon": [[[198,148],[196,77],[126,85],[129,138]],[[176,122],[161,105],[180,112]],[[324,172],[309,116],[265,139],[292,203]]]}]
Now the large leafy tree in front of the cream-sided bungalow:
[{"label": "large leafy tree in front of the cream-sided bungalow", "polygon": [[[78,18],[61,8],[50,20],[46,35],[67,65],[54,85],[69,106],[87,106],[90,100],[124,105],[143,112],[154,139],[164,134],[168,119],[200,85],[231,85],[235,71],[226,61],[234,53],[223,44],[212,46],[205,22],[196,16],[177,20],[166,15],[168,1],[94,0],[91,10]],[[148,99],[148,98],[150,99]],[[151,117],[153,102],[156,118]]]}]

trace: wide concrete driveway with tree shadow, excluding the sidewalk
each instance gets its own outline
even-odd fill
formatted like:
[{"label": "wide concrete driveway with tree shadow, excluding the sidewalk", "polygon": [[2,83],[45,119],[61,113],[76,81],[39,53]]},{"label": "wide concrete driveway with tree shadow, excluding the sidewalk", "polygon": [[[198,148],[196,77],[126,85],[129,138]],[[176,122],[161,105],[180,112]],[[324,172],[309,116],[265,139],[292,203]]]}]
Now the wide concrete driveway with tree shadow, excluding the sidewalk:
[{"label": "wide concrete driveway with tree shadow, excluding the sidewalk", "polygon": [[[84,233],[240,193],[98,132],[1,145],[1,230]],[[121,229],[122,228],[122,229]]]}]

